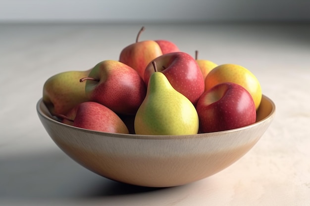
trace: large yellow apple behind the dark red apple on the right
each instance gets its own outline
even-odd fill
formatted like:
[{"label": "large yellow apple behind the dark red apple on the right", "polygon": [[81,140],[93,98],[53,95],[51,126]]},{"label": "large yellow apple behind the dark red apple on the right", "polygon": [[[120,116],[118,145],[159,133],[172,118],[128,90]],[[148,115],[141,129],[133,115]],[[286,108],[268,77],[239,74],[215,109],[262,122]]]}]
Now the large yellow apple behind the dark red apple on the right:
[{"label": "large yellow apple behind the dark red apple on the right", "polygon": [[247,89],[254,100],[256,109],[258,109],[262,96],[261,86],[251,71],[236,64],[219,65],[207,75],[205,90],[223,82],[237,83]]}]

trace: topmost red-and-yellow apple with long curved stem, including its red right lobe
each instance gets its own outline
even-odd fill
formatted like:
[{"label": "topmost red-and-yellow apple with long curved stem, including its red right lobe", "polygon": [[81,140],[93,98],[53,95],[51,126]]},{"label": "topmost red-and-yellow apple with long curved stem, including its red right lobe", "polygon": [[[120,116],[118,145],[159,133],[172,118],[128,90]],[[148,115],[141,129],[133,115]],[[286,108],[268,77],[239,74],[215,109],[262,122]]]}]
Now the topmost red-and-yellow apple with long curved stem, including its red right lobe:
[{"label": "topmost red-and-yellow apple with long curved stem, including its red right lobe", "polygon": [[144,30],[145,27],[142,27],[137,35],[136,42],[126,46],[119,55],[119,61],[136,70],[142,79],[144,78],[146,66],[153,59],[166,52],[179,50],[177,46],[170,41],[139,41],[139,37]]}]

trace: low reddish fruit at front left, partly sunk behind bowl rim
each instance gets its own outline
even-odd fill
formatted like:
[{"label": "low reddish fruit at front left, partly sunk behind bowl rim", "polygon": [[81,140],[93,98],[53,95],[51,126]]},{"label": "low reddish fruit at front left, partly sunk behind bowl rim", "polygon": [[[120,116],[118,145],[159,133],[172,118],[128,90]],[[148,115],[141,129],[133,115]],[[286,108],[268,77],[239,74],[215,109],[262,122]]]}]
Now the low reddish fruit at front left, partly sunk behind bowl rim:
[{"label": "low reddish fruit at front left, partly sunk behind bowl rim", "polygon": [[97,102],[83,102],[66,114],[73,122],[62,123],[96,131],[128,134],[124,122],[109,108]]}]

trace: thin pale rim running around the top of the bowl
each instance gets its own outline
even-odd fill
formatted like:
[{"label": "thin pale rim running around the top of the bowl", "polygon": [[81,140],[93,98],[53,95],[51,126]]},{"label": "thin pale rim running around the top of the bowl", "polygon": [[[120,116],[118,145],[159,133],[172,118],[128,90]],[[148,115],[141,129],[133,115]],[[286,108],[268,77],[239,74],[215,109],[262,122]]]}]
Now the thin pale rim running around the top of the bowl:
[{"label": "thin pale rim running around the top of the bowl", "polygon": [[273,118],[273,116],[275,115],[275,111],[276,111],[275,103],[269,97],[267,97],[267,96],[262,94],[262,98],[266,99],[271,104],[272,109],[271,109],[271,112],[265,118],[259,120],[258,122],[254,123],[254,124],[250,124],[250,125],[239,127],[239,128],[235,128],[235,129],[224,130],[224,131],[215,131],[215,132],[198,133],[198,134],[186,134],[186,135],[122,134],[122,133],[111,133],[111,132],[96,131],[96,130],[92,130],[92,129],[85,129],[85,128],[80,128],[80,127],[64,124],[64,123],[61,123],[61,122],[51,118],[52,115],[51,115],[51,117],[49,117],[48,115],[46,115],[41,110],[41,104],[44,104],[43,103],[43,98],[40,98],[38,100],[37,105],[36,105],[36,110],[37,110],[37,113],[38,113],[39,116],[41,116],[42,118],[46,119],[49,122],[52,122],[53,124],[59,124],[59,125],[61,125],[63,127],[70,127],[72,129],[83,131],[83,132],[86,132],[86,133],[96,134],[96,135],[100,135],[100,136],[127,138],[127,139],[154,139],[154,140],[155,139],[167,139],[167,140],[170,139],[171,140],[171,139],[214,137],[214,136],[217,136],[217,135],[222,135],[222,134],[225,134],[225,133],[236,132],[238,130],[250,129],[252,127],[258,126],[258,124],[262,124],[262,123],[270,120],[271,118]]}]

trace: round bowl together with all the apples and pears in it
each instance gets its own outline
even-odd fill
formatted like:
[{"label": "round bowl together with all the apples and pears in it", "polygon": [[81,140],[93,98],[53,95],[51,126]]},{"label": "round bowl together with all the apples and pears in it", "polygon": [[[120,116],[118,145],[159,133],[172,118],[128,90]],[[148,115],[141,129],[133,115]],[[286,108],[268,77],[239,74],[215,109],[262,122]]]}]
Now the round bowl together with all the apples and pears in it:
[{"label": "round bowl together with all the apples and pears in it", "polygon": [[275,115],[256,77],[138,37],[120,61],[47,80],[37,113],[56,145],[99,175],[148,187],[198,181],[245,155]]}]

